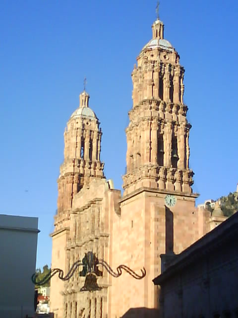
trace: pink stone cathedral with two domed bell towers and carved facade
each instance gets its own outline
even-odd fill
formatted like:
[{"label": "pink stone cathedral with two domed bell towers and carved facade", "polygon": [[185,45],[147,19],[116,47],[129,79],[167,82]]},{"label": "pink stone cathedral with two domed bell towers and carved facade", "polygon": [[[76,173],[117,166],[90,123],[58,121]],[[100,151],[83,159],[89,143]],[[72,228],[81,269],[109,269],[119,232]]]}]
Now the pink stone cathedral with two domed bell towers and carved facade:
[{"label": "pink stone cathedral with two domed bell towers and carved facade", "polygon": [[180,253],[221,222],[195,207],[184,68],[164,38],[159,18],[136,60],[131,74],[133,106],[125,130],[123,193],[104,175],[102,130],[85,90],[67,122],[51,234],[52,268],[67,273],[92,251],[114,270],[124,264],[140,274],[144,267],[146,276],[136,280],[124,272],[116,278],[100,265],[101,289],[93,292],[81,291],[81,269],[65,282],[54,276],[50,299],[55,318],[130,317],[135,308],[151,309],[156,316],[160,289],[152,280],[161,273],[160,256]]}]

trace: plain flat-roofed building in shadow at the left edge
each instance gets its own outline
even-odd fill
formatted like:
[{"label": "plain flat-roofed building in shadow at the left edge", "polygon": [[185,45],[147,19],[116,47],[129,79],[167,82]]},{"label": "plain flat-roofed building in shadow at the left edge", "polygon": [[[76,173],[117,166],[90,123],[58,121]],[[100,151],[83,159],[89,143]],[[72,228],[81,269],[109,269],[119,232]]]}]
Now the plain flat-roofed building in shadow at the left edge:
[{"label": "plain flat-roofed building in shadow at the left edge", "polygon": [[34,317],[38,218],[0,215],[0,318]]}]

